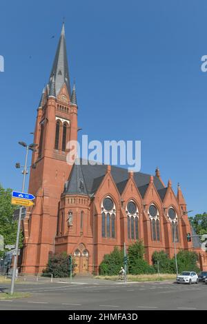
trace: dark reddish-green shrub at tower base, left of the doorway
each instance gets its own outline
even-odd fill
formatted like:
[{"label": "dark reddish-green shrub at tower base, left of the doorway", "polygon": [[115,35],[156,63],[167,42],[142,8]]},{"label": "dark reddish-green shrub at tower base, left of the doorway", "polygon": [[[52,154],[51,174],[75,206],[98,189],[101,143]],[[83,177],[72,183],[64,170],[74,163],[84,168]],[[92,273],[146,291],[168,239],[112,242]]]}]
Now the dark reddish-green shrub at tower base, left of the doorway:
[{"label": "dark reddish-green shrub at tower base, left of the doorway", "polygon": [[42,275],[47,276],[47,274],[52,274],[55,278],[70,276],[69,256],[66,252],[49,256],[48,265]]}]

